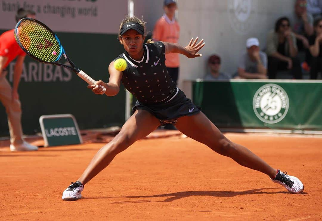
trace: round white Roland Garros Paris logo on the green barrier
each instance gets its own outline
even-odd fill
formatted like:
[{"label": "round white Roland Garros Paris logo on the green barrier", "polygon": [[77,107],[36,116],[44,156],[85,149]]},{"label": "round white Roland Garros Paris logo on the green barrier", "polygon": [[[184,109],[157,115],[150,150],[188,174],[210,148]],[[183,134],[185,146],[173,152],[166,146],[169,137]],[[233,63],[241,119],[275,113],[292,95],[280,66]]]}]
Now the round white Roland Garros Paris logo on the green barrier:
[{"label": "round white Roland Garros Paris logo on the green barrier", "polygon": [[255,93],[253,109],[256,116],[265,123],[277,123],[289,110],[289,97],[279,85],[265,84]]}]

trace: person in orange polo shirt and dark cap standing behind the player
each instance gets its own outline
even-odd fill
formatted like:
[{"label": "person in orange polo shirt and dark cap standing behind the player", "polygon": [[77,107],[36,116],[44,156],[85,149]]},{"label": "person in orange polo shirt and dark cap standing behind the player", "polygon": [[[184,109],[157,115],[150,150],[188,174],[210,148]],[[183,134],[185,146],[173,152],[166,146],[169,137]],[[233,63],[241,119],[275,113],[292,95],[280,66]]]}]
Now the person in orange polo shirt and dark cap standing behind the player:
[{"label": "person in orange polo shirt and dark cap standing behind the player", "polygon": [[[178,43],[180,26],[175,20],[175,10],[177,4],[175,0],[165,0],[164,10],[165,14],[156,22],[153,29],[153,41],[164,41],[171,43]],[[177,84],[179,75],[179,54],[166,54],[166,68],[172,80]]]}]

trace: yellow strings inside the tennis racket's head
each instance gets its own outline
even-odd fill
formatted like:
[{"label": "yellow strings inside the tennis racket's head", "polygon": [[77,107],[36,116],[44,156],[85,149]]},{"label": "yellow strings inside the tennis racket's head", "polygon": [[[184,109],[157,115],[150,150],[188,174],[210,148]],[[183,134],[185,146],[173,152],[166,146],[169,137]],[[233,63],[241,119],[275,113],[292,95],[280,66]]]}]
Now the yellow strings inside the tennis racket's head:
[{"label": "yellow strings inside the tennis racket's head", "polygon": [[27,20],[19,24],[18,30],[17,37],[20,43],[31,55],[46,62],[58,60],[60,44],[47,28]]}]

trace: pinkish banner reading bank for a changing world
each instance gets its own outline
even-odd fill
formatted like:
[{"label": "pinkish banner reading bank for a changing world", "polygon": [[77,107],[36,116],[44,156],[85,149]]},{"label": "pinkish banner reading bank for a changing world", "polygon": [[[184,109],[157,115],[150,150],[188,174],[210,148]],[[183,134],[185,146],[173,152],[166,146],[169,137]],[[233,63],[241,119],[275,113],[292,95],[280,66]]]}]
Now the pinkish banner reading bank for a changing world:
[{"label": "pinkish banner reading bank for a changing world", "polygon": [[127,0],[1,0],[0,29],[12,29],[18,8],[36,13],[57,32],[115,34],[128,14]]}]

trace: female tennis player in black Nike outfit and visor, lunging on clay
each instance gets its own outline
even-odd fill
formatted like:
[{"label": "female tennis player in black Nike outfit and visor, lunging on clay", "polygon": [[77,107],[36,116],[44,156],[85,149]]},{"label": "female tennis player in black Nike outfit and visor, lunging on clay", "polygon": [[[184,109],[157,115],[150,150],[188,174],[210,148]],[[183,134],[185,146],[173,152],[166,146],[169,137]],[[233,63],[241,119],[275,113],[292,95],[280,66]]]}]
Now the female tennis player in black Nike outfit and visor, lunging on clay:
[{"label": "female tennis player in black Nike outfit and visor, lunging on clay", "polygon": [[[125,52],[109,64],[109,82],[96,83],[107,89],[107,96],[114,96],[118,94],[122,82],[137,98],[134,113],[118,135],[96,153],[81,177],[64,190],[62,199],[73,201],[81,198],[84,185],[106,168],[118,153],[146,137],[160,124],[167,123],[240,165],[267,174],[273,182],[283,185],[290,192],[301,193],[304,186],[298,178],[272,168],[250,150],[227,139],[171,80],[165,66],[165,54],[181,53],[188,58],[200,57],[202,55],[198,52],[204,47],[204,40],[198,42],[198,37],[192,38],[186,47],[151,40],[144,43],[146,33],[144,22],[137,17],[122,21],[119,42]],[[123,72],[114,68],[114,61],[118,58],[127,62]],[[88,88],[96,94],[102,90],[96,85],[88,85]]]}]

